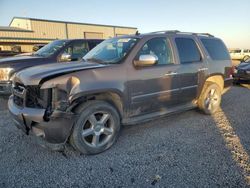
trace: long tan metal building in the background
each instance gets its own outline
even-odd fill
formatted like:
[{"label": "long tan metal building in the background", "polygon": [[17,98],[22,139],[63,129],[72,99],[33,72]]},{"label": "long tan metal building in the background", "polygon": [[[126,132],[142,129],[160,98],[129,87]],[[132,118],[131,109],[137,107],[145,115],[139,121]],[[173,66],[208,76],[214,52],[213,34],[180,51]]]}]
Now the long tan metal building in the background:
[{"label": "long tan metal building in the background", "polygon": [[134,34],[137,28],[78,22],[14,17],[8,27],[0,26],[0,49],[20,46],[22,52],[31,52],[34,44],[46,44],[56,39],[96,38]]}]

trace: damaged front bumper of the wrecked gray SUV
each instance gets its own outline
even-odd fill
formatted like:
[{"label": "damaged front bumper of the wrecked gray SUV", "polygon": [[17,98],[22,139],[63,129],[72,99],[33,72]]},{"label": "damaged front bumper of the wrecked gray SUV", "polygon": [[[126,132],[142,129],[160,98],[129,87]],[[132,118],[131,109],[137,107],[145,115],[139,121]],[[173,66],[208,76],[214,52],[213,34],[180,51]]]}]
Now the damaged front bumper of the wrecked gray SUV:
[{"label": "damaged front bumper of the wrecked gray SUV", "polygon": [[32,133],[49,144],[64,144],[76,119],[73,113],[54,111],[49,121],[44,120],[45,109],[21,108],[9,98],[8,108],[15,125],[26,134]]}]

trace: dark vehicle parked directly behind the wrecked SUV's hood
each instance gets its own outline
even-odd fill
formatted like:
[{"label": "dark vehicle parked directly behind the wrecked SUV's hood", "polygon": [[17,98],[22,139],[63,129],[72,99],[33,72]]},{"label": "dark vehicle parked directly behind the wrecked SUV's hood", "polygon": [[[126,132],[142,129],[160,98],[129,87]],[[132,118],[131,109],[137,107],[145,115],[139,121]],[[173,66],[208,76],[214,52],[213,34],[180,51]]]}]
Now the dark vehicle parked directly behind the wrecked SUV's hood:
[{"label": "dark vehicle parked directly behind the wrecked SUV's hood", "polygon": [[11,93],[11,77],[14,73],[42,64],[77,61],[102,41],[99,39],[56,40],[35,53],[0,59],[0,94]]}]

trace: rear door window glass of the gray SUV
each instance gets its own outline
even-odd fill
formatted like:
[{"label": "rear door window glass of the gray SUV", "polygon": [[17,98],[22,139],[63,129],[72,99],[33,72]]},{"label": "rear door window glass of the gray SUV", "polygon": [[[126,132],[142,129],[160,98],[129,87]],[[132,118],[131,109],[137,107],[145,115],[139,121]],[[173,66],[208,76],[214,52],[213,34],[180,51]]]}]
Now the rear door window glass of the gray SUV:
[{"label": "rear door window glass of the gray SUV", "polygon": [[201,61],[200,51],[193,39],[176,38],[175,43],[177,46],[181,64]]}]

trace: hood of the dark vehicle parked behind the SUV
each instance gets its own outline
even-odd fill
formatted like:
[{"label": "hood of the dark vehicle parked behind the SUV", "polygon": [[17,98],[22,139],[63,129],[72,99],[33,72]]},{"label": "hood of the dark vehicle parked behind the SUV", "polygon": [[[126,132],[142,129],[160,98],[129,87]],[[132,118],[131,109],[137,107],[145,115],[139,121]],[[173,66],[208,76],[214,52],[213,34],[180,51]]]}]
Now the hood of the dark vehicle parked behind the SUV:
[{"label": "hood of the dark vehicle parked behind the SUV", "polygon": [[0,59],[0,67],[11,67],[11,65],[16,63],[24,63],[26,61],[34,61],[38,59],[43,59],[39,56],[13,56]]}]

